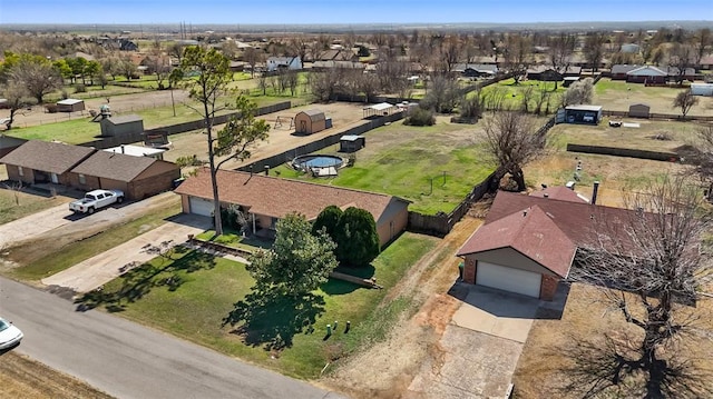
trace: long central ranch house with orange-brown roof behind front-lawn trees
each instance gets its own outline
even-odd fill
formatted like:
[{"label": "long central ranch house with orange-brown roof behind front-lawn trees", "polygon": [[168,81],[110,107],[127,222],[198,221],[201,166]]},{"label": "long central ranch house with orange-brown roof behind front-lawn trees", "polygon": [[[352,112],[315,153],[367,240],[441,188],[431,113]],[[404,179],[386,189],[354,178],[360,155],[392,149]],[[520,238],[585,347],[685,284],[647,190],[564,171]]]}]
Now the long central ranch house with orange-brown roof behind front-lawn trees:
[{"label": "long central ranch house with orange-brown roof behind front-lawn trees", "polygon": [[[217,182],[221,203],[242,207],[253,231],[263,229],[268,235],[274,232],[277,220],[291,212],[314,220],[331,205],[369,211],[377,222],[382,247],[404,230],[409,221],[409,201],[393,196],[227,170],[218,171]],[[186,179],[175,192],[180,194],[185,213],[213,215],[213,190],[207,169]]]}]

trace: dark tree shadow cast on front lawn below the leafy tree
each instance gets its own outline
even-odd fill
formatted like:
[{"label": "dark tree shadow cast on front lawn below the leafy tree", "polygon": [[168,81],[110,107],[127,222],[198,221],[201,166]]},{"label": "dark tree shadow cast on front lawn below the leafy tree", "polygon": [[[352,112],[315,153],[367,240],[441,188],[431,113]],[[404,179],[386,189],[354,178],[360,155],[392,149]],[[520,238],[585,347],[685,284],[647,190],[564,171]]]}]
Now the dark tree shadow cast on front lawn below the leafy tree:
[{"label": "dark tree shadow cast on front lawn below the leafy tree", "polygon": [[313,325],[324,312],[324,305],[322,296],[311,292],[289,297],[253,291],[234,305],[222,326],[237,326],[229,332],[241,336],[245,345],[280,351],[292,347],[296,333],[314,332]]}]

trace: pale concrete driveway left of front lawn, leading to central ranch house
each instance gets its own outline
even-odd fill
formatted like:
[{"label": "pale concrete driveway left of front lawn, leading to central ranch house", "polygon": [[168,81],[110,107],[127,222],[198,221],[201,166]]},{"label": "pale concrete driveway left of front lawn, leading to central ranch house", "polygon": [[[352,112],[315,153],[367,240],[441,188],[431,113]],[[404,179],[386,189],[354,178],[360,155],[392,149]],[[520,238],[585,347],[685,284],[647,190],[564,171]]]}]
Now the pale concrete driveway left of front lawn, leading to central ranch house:
[{"label": "pale concrete driveway left of front lawn, leading to central ranch house", "polygon": [[147,231],[118,247],[89,258],[57,275],[42,279],[46,286],[59,286],[76,292],[91,291],[121,275],[120,269],[131,262],[147,262],[155,255],[146,253],[144,247],[172,241],[185,242],[188,235],[198,235],[212,226],[211,218],[180,215],[165,225]]}]

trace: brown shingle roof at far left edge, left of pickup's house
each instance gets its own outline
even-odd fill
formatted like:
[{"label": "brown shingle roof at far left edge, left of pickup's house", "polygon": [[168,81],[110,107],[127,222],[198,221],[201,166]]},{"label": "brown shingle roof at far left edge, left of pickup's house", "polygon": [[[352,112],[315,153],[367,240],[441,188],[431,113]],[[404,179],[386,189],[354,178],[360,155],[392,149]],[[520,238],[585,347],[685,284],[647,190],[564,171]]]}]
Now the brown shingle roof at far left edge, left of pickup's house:
[{"label": "brown shingle roof at far left edge, left of pickup's house", "polygon": [[61,174],[95,151],[89,147],[31,140],[4,156],[0,162]]}]

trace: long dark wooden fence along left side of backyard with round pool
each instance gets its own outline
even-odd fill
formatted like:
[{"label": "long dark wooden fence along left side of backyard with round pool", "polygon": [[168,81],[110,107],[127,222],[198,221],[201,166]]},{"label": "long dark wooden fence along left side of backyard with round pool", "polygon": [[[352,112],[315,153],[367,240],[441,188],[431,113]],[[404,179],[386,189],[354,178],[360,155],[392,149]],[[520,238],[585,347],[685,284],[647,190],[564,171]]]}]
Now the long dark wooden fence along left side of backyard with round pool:
[{"label": "long dark wooden fence along left side of backyard with round pool", "polygon": [[379,117],[375,119],[371,119],[371,120],[367,120],[364,121],[362,124],[355,126],[351,129],[348,130],[341,130],[338,131],[333,134],[330,134],[328,137],[324,137],[320,140],[316,141],[312,141],[309,142],[306,144],[300,146],[300,147],[295,147],[293,149],[290,149],[287,151],[274,154],[272,157],[267,157],[267,158],[263,158],[263,159],[258,159],[247,166],[237,168],[237,170],[241,171],[250,171],[251,168],[254,172],[260,172],[262,170],[265,169],[265,167],[270,167],[270,168],[275,168],[279,167],[283,163],[285,163],[289,160],[292,160],[293,158],[296,158],[299,156],[304,156],[307,153],[312,153],[315,151],[319,151],[323,148],[326,148],[329,146],[333,146],[339,142],[339,139],[342,136],[349,136],[349,134],[354,134],[354,136],[359,136],[362,133],[368,132],[369,130],[372,129],[377,129],[379,127],[384,126],[385,123],[389,122],[393,122],[397,121],[399,119],[403,118],[403,112],[395,112],[389,116],[384,116],[384,117]]}]

